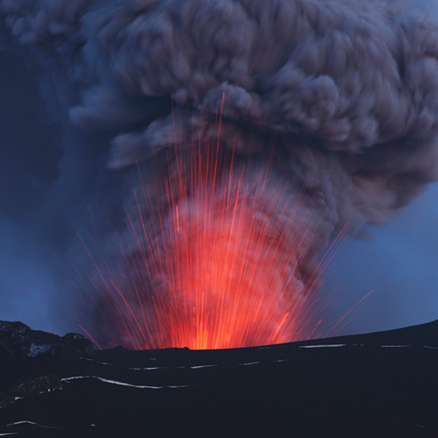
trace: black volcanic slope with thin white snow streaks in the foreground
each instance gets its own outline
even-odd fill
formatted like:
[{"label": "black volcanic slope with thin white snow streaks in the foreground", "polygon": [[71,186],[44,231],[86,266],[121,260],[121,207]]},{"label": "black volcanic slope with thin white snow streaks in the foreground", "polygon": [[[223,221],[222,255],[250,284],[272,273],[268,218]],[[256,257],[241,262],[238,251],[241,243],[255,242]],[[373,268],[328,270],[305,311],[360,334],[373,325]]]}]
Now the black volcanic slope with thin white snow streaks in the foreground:
[{"label": "black volcanic slope with thin white snow streaks in the foreground", "polygon": [[208,351],[0,322],[0,369],[0,436],[438,437],[438,321]]}]

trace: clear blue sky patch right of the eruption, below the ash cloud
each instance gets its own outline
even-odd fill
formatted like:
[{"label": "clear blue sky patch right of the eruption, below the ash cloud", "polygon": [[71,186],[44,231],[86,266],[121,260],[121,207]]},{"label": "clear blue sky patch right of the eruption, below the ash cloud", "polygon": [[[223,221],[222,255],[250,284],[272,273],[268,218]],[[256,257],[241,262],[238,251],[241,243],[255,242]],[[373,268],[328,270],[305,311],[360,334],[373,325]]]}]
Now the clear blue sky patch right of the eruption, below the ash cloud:
[{"label": "clear blue sky patch right of the eruption, below the ash cloud", "polygon": [[389,329],[438,319],[438,184],[386,226],[368,226],[369,239],[350,240],[333,260],[325,289],[342,315],[355,320],[343,332]]}]

